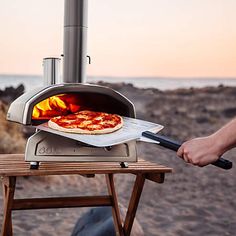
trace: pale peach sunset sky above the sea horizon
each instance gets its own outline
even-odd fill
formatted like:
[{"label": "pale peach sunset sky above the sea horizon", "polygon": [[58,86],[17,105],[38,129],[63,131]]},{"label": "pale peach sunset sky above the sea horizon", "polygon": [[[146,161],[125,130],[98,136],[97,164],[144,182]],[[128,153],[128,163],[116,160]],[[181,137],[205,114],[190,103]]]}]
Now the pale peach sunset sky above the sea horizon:
[{"label": "pale peach sunset sky above the sea horizon", "polygon": [[[90,76],[236,77],[235,0],[88,0]],[[63,53],[64,0],[0,0],[0,74]]]}]

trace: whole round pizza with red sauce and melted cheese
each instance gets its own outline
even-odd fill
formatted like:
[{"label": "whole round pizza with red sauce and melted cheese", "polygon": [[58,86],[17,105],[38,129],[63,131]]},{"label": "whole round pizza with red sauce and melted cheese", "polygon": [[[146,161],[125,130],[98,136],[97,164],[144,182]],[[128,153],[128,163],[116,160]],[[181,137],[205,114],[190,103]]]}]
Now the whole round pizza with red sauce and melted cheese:
[{"label": "whole round pizza with red sauce and melted cheese", "polygon": [[48,121],[52,129],[77,134],[108,134],[123,126],[123,119],[116,114],[95,111],[79,111]]}]

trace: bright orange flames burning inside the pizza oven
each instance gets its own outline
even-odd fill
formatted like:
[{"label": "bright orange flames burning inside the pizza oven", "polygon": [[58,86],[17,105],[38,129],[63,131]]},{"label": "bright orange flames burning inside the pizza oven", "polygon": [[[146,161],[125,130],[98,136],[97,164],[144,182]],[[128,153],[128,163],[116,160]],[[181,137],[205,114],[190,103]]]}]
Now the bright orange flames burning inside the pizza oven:
[{"label": "bright orange flames burning inside the pizza oven", "polygon": [[81,109],[76,94],[59,94],[49,97],[33,108],[32,119],[50,119],[54,116],[67,115]]}]

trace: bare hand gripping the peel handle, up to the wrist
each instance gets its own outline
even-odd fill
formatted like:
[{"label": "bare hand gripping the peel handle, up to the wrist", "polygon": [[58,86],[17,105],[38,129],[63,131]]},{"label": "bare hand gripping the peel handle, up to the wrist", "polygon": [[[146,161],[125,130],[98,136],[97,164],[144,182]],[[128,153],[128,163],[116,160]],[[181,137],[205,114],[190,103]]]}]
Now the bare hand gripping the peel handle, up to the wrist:
[{"label": "bare hand gripping the peel handle, up to the wrist", "polygon": [[207,136],[183,143],[177,155],[188,163],[202,167],[217,161],[222,152],[214,136]]}]

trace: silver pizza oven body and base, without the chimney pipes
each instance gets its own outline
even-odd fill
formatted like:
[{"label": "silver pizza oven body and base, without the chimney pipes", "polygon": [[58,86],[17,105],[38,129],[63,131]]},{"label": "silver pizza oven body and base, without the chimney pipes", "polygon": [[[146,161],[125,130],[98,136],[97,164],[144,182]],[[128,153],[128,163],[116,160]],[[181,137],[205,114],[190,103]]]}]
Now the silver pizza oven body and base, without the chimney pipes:
[{"label": "silver pizza oven body and base, without the chimney pipes", "polygon": [[[133,104],[120,93],[103,86],[55,84],[29,91],[10,106],[7,119],[26,126],[44,124],[50,118],[81,110],[102,111],[135,118]],[[31,167],[40,161],[116,161],[137,160],[136,142],[94,147],[67,137],[37,130],[27,141],[25,160]]]}]

